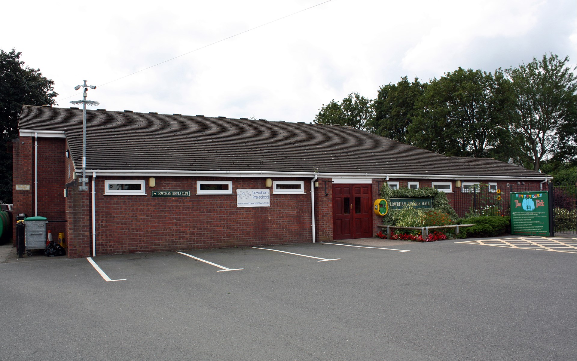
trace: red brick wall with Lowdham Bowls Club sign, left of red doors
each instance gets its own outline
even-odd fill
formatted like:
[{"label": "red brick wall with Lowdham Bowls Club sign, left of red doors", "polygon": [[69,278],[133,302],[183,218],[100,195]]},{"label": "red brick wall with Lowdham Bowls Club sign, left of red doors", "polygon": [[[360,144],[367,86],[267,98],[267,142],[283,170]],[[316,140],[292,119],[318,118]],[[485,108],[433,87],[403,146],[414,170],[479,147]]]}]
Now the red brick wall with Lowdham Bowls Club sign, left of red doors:
[{"label": "red brick wall with Lowdham Bowls Club sign, left of red doors", "polygon": [[[112,179],[145,180],[147,194],[104,195],[104,181]],[[310,179],[283,178],[304,180],[305,194],[273,194],[271,189],[271,206],[243,208],[237,207],[236,190],[264,189],[265,178],[234,178],[234,194],[226,195],[197,195],[196,179],[155,176],[151,188],[148,177],[97,177],[96,254],[312,242]],[[190,190],[190,197],[151,197],[152,190]],[[77,186],[69,192],[69,257],[83,257],[92,242],[91,192]]]}]

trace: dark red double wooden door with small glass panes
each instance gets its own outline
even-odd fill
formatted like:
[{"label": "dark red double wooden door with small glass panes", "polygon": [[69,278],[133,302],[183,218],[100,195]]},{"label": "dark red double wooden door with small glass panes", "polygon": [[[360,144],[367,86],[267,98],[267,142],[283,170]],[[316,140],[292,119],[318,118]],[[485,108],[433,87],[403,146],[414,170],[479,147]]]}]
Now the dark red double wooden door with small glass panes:
[{"label": "dark red double wooden door with small glass panes", "polygon": [[373,236],[372,185],[332,185],[333,239]]}]

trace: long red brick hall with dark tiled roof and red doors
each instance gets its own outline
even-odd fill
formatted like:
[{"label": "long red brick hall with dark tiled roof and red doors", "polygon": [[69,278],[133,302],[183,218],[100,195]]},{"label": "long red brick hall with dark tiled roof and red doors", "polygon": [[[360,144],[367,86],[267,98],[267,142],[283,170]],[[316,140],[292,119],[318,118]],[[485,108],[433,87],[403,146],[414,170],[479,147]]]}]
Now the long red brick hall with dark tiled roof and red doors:
[{"label": "long red brick hall with dark tiled roof and red doors", "polygon": [[[550,179],[344,126],[24,106],[14,214],[48,218],[69,257],[372,237],[393,187]],[[456,183],[458,182],[458,183]],[[14,237],[15,238],[15,237]]]}]

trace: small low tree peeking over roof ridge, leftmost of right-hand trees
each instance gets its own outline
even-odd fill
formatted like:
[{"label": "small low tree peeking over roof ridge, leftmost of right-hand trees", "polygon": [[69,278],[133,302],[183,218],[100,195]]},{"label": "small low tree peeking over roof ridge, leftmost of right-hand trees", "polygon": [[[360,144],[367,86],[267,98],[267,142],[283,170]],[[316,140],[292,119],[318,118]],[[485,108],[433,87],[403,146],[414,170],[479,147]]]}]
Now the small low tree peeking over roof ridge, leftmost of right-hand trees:
[{"label": "small low tree peeking over roof ridge, leftmost of right-hand trees", "polygon": [[359,93],[350,93],[341,103],[331,100],[319,109],[314,116],[315,123],[331,125],[348,125],[357,129],[368,130],[367,123],[374,116],[373,101]]}]

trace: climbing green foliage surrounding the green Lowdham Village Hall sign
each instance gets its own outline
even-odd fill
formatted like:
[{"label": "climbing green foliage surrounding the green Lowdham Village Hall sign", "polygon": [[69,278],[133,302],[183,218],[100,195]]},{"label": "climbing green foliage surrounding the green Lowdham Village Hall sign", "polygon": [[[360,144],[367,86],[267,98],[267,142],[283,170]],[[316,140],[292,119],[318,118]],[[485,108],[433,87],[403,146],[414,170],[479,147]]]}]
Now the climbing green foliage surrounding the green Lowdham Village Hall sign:
[{"label": "climbing green foliage surrounding the green Lowdham Village Hall sign", "polygon": [[[421,214],[421,219],[415,219],[415,223],[419,223],[418,225],[404,225],[403,227],[423,227],[425,224],[425,214],[426,212],[437,212],[437,213],[445,213],[451,220],[455,220],[458,218],[457,213],[449,204],[449,200],[447,199],[447,195],[444,192],[440,192],[431,187],[421,187],[419,189],[411,189],[411,188],[399,188],[399,189],[391,189],[389,188],[388,184],[385,182],[383,187],[381,187],[381,198],[387,200],[387,202],[391,201],[391,198],[432,198],[432,208],[430,209],[418,209]],[[390,224],[390,225],[400,225],[396,223],[399,219],[397,213],[403,211],[404,209],[389,209],[388,213],[383,216],[383,224]],[[416,216],[416,213],[415,213]]]}]

